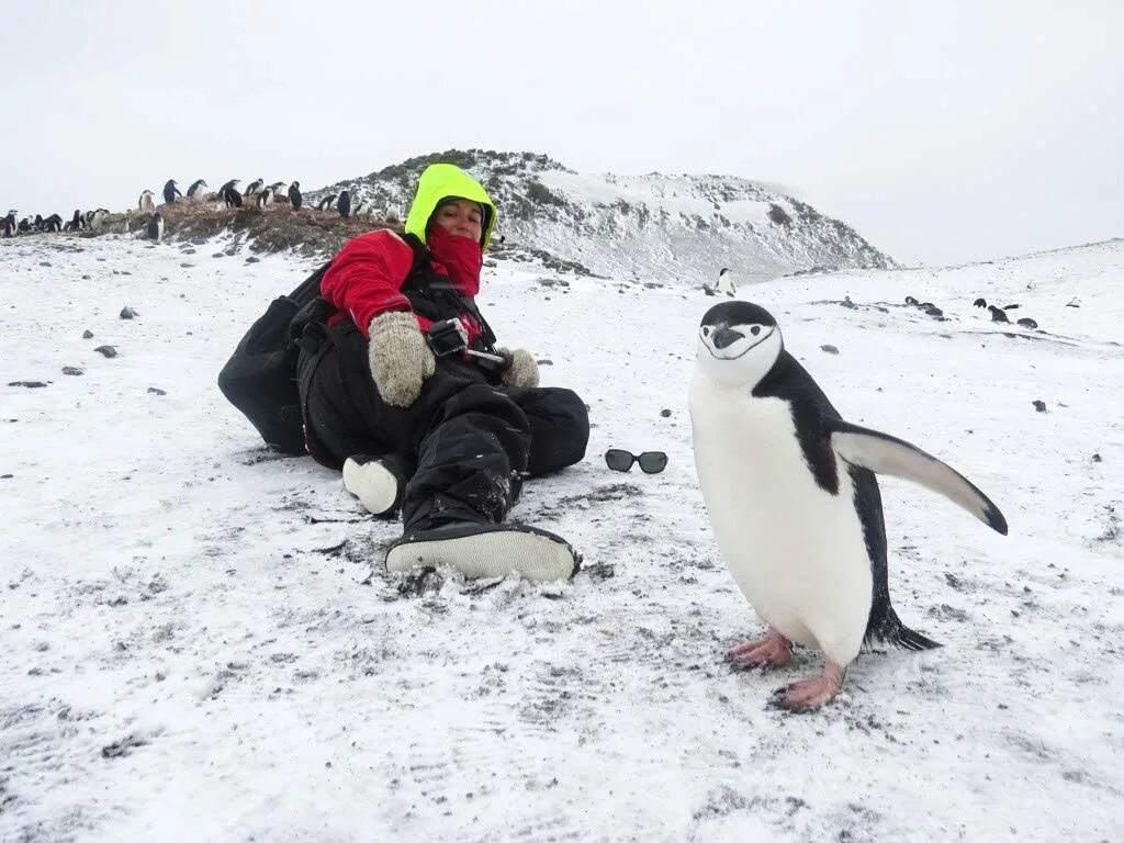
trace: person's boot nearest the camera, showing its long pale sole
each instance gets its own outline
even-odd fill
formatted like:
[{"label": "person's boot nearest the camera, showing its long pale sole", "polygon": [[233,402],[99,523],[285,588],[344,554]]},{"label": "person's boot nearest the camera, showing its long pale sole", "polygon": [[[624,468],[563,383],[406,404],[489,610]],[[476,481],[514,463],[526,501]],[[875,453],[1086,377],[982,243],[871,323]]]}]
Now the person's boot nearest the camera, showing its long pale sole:
[{"label": "person's boot nearest the camera, showing its long pale sole", "polygon": [[580,558],[553,533],[513,524],[480,524],[407,535],[387,552],[388,571],[448,565],[469,579],[518,573],[534,582],[568,580]]}]

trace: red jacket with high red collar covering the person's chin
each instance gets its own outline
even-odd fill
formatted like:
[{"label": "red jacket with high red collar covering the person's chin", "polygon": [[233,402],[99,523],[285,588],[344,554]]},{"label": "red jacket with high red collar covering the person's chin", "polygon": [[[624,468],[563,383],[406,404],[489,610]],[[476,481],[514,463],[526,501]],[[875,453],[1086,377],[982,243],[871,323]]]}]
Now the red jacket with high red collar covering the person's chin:
[{"label": "red jacket with high red collar covering the person's chin", "polygon": [[[462,296],[474,298],[480,291],[483,263],[480,244],[453,236],[439,226],[429,228],[426,242],[434,271],[447,275]],[[410,310],[401,287],[413,265],[414,250],[389,230],[369,232],[350,241],[320,280],[320,296],[342,311],[329,323],[350,314],[363,336],[368,336],[374,317],[389,310]],[[422,330],[432,324],[424,316],[417,316],[417,320]],[[480,326],[468,315],[461,321],[471,344],[480,335]]]}]

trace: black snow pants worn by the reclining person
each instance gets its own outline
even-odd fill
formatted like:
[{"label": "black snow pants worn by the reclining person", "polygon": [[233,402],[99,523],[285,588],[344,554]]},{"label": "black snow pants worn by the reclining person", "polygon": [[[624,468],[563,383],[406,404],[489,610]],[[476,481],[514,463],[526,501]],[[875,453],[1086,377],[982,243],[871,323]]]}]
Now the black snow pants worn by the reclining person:
[{"label": "black snow pants worn by the reclining person", "polygon": [[526,477],[581,461],[589,415],[571,390],[489,382],[474,363],[441,357],[409,407],[382,400],[368,341],[351,323],[301,352],[301,409],[309,451],[341,468],[353,454],[398,455],[413,475],[402,498],[407,532],[448,522],[498,524]]}]

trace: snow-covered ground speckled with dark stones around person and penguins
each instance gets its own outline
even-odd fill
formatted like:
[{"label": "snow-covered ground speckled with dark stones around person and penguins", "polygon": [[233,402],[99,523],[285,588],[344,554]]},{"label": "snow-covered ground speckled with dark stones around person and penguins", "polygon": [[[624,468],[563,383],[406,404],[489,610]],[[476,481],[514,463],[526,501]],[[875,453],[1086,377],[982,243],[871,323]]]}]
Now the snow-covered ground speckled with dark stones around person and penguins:
[{"label": "snow-covered ground speckled with dark stones around person and penguins", "polygon": [[[184,250],[0,242],[0,839],[1124,839],[1124,242],[742,290],[846,418],[1010,522],[883,480],[895,605],[945,646],[860,656],[807,716],[767,703],[817,653],[725,659],[761,627],[691,457],[716,299],[489,270],[501,339],[591,407],[586,461],[514,514],[584,568],[405,578],[379,564],[400,527],[215,387],[308,265]],[[610,446],[670,462],[613,473]]]}]

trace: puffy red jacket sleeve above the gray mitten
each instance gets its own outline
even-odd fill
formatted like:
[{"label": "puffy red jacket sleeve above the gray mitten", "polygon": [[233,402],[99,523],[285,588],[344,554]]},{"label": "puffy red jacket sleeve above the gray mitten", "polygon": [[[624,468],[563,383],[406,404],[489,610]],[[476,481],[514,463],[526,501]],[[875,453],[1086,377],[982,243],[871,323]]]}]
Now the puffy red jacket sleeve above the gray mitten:
[{"label": "puffy red jacket sleeve above the gray mitten", "polygon": [[414,265],[414,251],[387,230],[350,241],[320,280],[320,296],[351,314],[366,336],[371,319],[388,310],[409,310],[399,290]]}]

